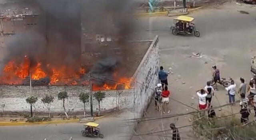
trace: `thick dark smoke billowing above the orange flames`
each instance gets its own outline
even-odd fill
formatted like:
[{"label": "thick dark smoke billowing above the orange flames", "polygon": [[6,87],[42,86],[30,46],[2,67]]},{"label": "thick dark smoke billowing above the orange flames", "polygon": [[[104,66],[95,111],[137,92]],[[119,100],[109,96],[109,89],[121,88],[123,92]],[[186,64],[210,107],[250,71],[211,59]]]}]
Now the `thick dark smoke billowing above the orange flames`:
[{"label": "thick dark smoke billowing above the orange flames", "polygon": [[[31,67],[42,63],[48,72],[52,67],[68,66],[70,74],[81,66],[81,29],[94,38],[104,34],[117,38],[111,46],[120,48],[122,58],[112,51],[102,52],[101,60],[94,64],[91,72],[96,75],[112,75],[120,61],[132,54],[127,51],[127,39],[134,33],[134,24],[127,16],[131,14],[132,2],[128,0],[19,0],[40,8],[40,29],[16,34],[7,44],[4,65],[11,59],[21,63],[24,56],[30,59]],[[95,47],[95,46],[90,46]],[[126,51],[122,51],[126,50]],[[85,50],[88,51],[88,50]],[[3,66],[4,66],[3,65]],[[2,68],[1,68],[2,69]],[[1,73],[0,73],[1,74]],[[48,72],[51,75],[51,72]]]}]

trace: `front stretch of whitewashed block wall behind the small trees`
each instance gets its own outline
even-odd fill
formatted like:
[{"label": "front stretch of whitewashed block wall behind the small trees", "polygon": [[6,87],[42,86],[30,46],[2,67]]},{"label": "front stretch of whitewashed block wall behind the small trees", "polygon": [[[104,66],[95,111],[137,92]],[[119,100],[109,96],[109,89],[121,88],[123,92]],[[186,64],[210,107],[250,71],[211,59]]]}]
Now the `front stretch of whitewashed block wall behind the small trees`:
[{"label": "front stretch of whitewashed block wall behind the small trees", "polygon": [[[130,93],[133,89],[109,90],[104,91],[106,98],[102,100],[101,109],[113,109],[116,107],[129,108],[131,107],[132,99]],[[74,109],[74,111],[83,111],[83,103],[79,100],[79,94],[89,92],[88,87],[84,86],[35,86],[32,88],[32,95],[38,97],[36,102],[36,111],[46,112],[47,109],[41,99],[45,95],[54,96],[54,102],[51,105],[52,112],[62,112],[62,101],[58,100],[58,93],[61,91],[68,92],[68,99],[65,100],[66,109]],[[120,93],[120,94],[119,94]],[[0,105],[4,105],[4,111],[29,111],[30,105],[26,103],[26,98],[29,97],[29,86],[0,86]],[[118,103],[119,98],[119,103]],[[94,111],[98,110],[98,101],[93,97]],[[90,110],[90,102],[86,103],[86,109]]]}]

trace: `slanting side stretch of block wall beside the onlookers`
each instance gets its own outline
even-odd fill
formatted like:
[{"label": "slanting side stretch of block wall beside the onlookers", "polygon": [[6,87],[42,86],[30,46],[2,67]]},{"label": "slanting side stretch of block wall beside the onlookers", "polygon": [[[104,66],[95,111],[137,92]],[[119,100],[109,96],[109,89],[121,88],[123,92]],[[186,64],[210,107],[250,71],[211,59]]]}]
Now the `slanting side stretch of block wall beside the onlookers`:
[{"label": "slanting side stretch of block wall beside the onlookers", "polygon": [[157,35],[134,73],[134,118],[142,117],[158,82],[158,49]]}]

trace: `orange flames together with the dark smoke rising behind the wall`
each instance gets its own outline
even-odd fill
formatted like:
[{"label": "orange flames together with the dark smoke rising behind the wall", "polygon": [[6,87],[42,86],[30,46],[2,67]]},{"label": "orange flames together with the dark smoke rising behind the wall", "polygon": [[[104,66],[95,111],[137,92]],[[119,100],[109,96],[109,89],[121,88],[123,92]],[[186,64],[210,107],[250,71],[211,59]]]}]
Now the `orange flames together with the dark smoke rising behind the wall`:
[{"label": "orange flames together with the dark smoke rising behind the wall", "polygon": [[[74,86],[86,84],[91,75],[95,90],[116,89],[118,84],[130,88],[132,75],[127,74],[125,64],[129,64],[129,55],[136,47],[126,42],[132,35],[130,20],[124,16],[127,4],[90,0],[22,2],[39,7],[39,28],[17,33],[6,43],[0,84],[26,86],[31,78],[32,86]],[[21,16],[26,18],[18,14],[9,20]],[[99,33],[106,39],[95,39]]]}]

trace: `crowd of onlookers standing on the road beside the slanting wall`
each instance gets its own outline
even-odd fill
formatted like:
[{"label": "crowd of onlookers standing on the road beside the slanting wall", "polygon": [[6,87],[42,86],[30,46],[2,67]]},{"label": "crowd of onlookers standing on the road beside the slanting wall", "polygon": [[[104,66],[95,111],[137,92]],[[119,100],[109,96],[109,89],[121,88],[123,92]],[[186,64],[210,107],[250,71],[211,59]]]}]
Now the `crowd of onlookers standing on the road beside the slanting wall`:
[{"label": "crowd of onlookers standing on the road beside the slanting wall", "polygon": [[[196,95],[198,96],[198,108],[207,111],[208,117],[211,118],[216,116],[211,102],[212,97],[214,96],[214,91],[218,91],[217,85],[220,83],[220,70],[217,66],[212,66],[212,68],[212,82],[206,82],[204,88],[196,91]],[[169,72],[166,72],[161,66],[160,71],[158,72],[160,83],[155,87],[155,108],[162,111],[162,113],[170,113],[170,108],[168,107],[170,97],[170,91],[168,90],[168,74]],[[254,109],[254,117],[256,117],[256,79],[252,78],[248,85],[244,78],[240,78],[240,82],[241,84],[237,90],[234,80],[230,78],[230,85],[225,89],[227,91],[229,105],[234,106],[236,102],[239,102],[241,107],[241,123],[247,123],[252,109]],[[214,87],[212,85],[214,85]],[[240,95],[240,101],[235,100],[237,94]],[[174,124],[172,124],[172,126],[173,125]]]}]

